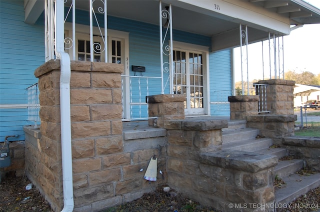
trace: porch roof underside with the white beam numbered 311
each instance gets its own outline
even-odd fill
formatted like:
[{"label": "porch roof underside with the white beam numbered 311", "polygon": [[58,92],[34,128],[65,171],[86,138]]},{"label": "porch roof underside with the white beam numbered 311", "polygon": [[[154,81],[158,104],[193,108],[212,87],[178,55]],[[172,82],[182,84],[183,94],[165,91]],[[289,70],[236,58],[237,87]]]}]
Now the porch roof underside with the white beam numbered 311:
[{"label": "porch roof underside with the white beam numbered 311", "polygon": [[[28,6],[43,4],[43,0],[24,1],[25,20],[34,20],[30,17],[33,12],[27,12],[32,11]],[[290,25],[320,23],[320,9],[303,0],[162,0],[162,9],[170,3],[172,27],[211,36],[212,51],[238,45],[239,23],[248,26],[249,43],[266,39],[268,32],[289,34]],[[87,0],[76,0],[75,5],[88,10]],[[159,1],[107,0],[107,14],[158,25]]]}]

